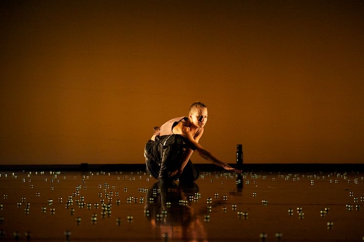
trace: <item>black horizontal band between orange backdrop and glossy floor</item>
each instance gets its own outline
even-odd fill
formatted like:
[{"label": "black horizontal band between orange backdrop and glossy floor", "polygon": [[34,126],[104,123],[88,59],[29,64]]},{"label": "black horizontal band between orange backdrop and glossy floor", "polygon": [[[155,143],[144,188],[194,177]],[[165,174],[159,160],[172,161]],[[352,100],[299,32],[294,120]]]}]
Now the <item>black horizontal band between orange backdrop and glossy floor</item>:
[{"label": "black horizontal band between orange backdrop and glossy floor", "polygon": [[[195,164],[200,171],[221,171],[214,164]],[[264,163],[264,164],[231,164],[244,172],[359,172],[364,171],[364,163]],[[0,171],[145,171],[145,164],[33,164],[33,165],[0,165]]]}]

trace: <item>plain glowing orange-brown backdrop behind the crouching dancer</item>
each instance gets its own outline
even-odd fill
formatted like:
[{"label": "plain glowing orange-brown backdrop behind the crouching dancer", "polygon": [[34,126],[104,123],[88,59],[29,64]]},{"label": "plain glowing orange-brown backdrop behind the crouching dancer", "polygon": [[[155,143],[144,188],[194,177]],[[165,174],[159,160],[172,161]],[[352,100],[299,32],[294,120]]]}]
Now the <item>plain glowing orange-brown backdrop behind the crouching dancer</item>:
[{"label": "plain glowing orange-brown backdrop behind the crouching dancer", "polygon": [[[143,163],[202,101],[226,162],[364,161],[363,1],[1,1],[0,164]],[[194,155],[193,161],[205,163]]]}]

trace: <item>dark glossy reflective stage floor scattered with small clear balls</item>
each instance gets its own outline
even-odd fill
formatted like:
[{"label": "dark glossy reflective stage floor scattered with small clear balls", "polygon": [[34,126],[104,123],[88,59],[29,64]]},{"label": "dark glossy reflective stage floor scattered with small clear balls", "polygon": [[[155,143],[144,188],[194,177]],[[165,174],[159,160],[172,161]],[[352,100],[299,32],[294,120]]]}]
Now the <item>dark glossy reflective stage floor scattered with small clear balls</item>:
[{"label": "dark glossy reflective stage floor scattered with small clear balls", "polygon": [[363,241],[364,174],[0,172],[3,241]]}]

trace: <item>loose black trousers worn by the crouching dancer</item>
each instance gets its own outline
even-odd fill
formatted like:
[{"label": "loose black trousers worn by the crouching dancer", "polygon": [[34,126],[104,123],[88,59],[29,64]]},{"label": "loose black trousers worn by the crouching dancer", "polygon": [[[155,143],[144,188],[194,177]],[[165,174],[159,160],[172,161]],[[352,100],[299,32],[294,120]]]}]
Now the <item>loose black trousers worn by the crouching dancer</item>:
[{"label": "loose black trousers worn by the crouching dancer", "polygon": [[189,160],[179,177],[172,177],[171,173],[182,165],[182,155],[185,143],[181,135],[157,136],[155,141],[149,140],[145,144],[144,157],[146,171],[155,179],[162,182],[174,181],[194,182],[199,178],[199,171]]}]

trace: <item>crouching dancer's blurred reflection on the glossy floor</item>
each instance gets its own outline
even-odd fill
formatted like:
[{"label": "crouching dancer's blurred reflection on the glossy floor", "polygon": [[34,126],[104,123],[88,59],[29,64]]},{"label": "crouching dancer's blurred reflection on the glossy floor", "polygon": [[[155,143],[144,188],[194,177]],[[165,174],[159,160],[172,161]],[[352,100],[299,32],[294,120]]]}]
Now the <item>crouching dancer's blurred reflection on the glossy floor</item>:
[{"label": "crouching dancer's blurred reflection on the glossy floor", "polygon": [[203,221],[186,202],[199,191],[196,183],[165,185],[156,182],[148,190],[144,207],[157,236],[183,241],[207,241]]}]

